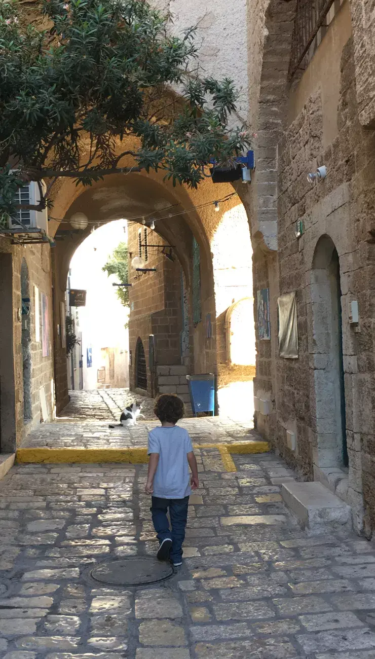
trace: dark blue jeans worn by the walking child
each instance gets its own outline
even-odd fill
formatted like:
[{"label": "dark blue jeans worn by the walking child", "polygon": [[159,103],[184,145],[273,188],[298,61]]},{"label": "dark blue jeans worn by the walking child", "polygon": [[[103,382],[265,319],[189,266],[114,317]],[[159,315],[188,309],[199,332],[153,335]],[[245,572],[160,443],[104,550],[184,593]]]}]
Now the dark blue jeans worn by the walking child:
[{"label": "dark blue jeans worn by the walking child", "polygon": [[[185,527],[187,525],[188,496],[185,499],[160,499],[157,496],[151,498],[152,522],[161,542],[165,538],[171,538],[172,547],[169,558],[173,563],[179,563],[183,558],[183,541],[185,540]],[[169,530],[167,509],[171,518],[172,530]]]}]

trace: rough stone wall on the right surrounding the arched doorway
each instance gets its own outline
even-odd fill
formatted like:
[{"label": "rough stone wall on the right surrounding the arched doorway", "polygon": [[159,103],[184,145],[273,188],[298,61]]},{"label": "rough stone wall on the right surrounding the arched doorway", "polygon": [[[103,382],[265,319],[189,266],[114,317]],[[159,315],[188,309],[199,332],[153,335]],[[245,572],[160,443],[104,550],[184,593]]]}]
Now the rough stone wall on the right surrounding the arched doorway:
[{"label": "rough stone wall on the right surrounding the arched doorway", "polygon": [[[337,28],[339,22],[333,25]],[[337,40],[327,41],[326,47],[329,43],[337,48]],[[273,357],[277,335],[271,342],[258,341],[255,392],[269,397],[273,412],[269,416],[256,413],[256,424],[304,478],[322,480],[347,500],[355,527],[369,535],[375,528],[375,251],[371,233],[375,228],[375,138],[361,126],[352,40],[342,52],[328,49],[325,54],[328,60],[337,56],[341,58],[337,135],[328,146],[324,144],[328,109],[322,98],[327,98],[324,85],[328,83],[323,77],[315,88],[304,86],[304,107],[277,147],[279,249],[273,258],[278,279],[274,286],[279,294],[297,291],[299,358]],[[306,173],[323,164],[326,179],[311,186]],[[301,239],[295,237],[297,220],[304,227]],[[330,379],[332,327],[324,306],[328,290],[322,288],[322,273],[328,266],[320,256],[322,237],[328,237],[324,240],[331,241],[339,259],[349,473],[337,453],[335,381]],[[270,268],[270,257],[255,252],[256,288],[272,288]],[[353,300],[359,302],[358,326],[349,323]],[[277,319],[277,296],[271,294],[270,303],[271,316]],[[295,451],[287,447],[286,430],[297,436]]]}]

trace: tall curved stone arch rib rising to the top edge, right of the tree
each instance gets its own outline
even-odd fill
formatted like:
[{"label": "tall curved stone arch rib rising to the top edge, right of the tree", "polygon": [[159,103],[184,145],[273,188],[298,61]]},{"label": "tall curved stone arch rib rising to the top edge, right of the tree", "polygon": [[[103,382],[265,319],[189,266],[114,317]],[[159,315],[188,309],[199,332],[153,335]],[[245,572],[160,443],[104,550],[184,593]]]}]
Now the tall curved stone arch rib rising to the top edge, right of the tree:
[{"label": "tall curved stone arch rib rising to the top edge, right of the tree", "polygon": [[[266,3],[263,3],[265,5]],[[250,3],[250,126],[256,130],[256,170],[250,196],[252,235],[266,252],[277,250],[277,163],[286,121],[287,76],[296,0],[270,0],[262,11]]]}]

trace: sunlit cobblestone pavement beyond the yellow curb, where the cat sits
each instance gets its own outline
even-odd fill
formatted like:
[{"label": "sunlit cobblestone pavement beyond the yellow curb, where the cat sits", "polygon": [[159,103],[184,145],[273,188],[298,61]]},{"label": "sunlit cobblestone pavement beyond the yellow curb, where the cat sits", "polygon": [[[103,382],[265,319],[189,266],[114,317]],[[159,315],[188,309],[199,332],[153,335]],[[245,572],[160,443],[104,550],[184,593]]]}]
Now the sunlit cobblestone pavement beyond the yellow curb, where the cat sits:
[{"label": "sunlit cobblestone pavement beyond the yellow curb, where the cat sits", "polygon": [[[152,399],[144,399],[142,413],[145,413],[146,420],[140,420],[130,428],[108,428],[109,423],[119,422],[124,407],[134,400],[134,394],[127,389],[71,391],[71,403],[65,407],[61,416],[53,423],[38,426],[26,437],[22,447],[146,446],[148,432],[159,425],[153,413]],[[229,444],[259,438],[252,430],[252,418],[234,420],[223,416],[204,416],[184,418],[180,425],[187,428],[195,444]]]}]

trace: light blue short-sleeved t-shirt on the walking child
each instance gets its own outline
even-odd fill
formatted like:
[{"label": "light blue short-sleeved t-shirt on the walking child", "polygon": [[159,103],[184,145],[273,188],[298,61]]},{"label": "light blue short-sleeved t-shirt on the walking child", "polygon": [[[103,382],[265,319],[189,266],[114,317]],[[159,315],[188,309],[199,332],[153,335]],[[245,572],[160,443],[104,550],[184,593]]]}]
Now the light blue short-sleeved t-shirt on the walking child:
[{"label": "light blue short-sleeved t-shirt on the walking child", "polygon": [[161,499],[184,499],[191,494],[187,453],[192,451],[185,428],[158,427],[148,434],[148,455],[159,453],[153,496]]}]

